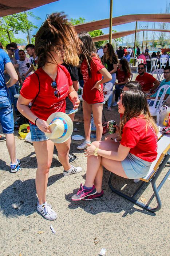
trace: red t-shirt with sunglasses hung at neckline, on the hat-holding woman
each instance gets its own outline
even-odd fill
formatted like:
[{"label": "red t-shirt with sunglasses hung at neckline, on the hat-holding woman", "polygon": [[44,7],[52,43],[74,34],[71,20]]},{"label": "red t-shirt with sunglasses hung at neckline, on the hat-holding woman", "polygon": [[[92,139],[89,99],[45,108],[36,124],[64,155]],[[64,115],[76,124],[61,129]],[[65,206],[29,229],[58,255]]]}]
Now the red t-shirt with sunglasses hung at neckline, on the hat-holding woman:
[{"label": "red t-shirt with sunglasses hung at neckline, on the hat-holding woman", "polygon": [[38,94],[32,105],[31,111],[37,117],[45,121],[47,121],[47,118],[54,112],[65,113],[65,99],[68,95],[69,86],[72,85],[72,80],[67,69],[64,66],[58,65],[58,72],[55,81],[57,83],[57,90],[60,93],[59,98],[54,96],[54,91],[56,89],[53,89],[51,86],[51,83],[53,82],[52,78],[42,68],[37,69],[36,73],[40,79],[39,94],[39,82],[35,73],[25,79],[20,91],[20,94],[26,99],[34,100]]}]

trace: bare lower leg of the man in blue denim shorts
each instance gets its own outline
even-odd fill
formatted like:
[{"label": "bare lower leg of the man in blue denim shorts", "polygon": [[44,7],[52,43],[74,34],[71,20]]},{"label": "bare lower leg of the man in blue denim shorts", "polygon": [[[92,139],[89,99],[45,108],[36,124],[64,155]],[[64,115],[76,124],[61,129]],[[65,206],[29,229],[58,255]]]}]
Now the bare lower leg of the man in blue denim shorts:
[{"label": "bare lower leg of the man in blue denim shorts", "polygon": [[11,163],[16,163],[15,155],[15,138],[13,133],[5,134],[6,136],[6,145],[8,148],[9,156],[11,158]]}]

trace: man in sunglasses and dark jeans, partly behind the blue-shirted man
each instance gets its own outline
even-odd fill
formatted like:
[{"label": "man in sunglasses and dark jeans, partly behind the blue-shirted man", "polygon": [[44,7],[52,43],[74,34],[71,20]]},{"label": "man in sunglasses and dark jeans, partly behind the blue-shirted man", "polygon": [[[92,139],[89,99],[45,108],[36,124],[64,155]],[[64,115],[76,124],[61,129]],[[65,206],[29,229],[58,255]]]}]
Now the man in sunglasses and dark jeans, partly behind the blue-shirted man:
[{"label": "man in sunglasses and dark jeans, partly behind the blue-shirted man", "polygon": [[[13,67],[17,71],[17,69],[19,68],[19,65],[17,64],[15,57],[13,57],[15,54],[15,48],[13,47],[12,44],[8,44],[8,45],[6,45],[6,49],[7,49],[9,59],[11,60]],[[9,79],[10,79],[10,75],[5,70],[5,82],[7,83],[9,81]],[[13,84],[13,86],[9,87],[9,95],[10,95],[11,102],[13,103],[13,107],[14,107],[16,116],[21,116],[21,114],[18,111],[17,106],[16,106],[17,98],[14,97],[14,95],[18,94],[18,92],[19,92],[19,83],[18,82]]]}]

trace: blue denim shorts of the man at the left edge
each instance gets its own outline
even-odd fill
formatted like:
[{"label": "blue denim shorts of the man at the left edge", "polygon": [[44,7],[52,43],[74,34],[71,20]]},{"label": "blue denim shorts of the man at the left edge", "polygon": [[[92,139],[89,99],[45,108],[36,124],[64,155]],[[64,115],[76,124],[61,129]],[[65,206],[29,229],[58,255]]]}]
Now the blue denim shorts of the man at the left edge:
[{"label": "blue denim shorts of the man at the left edge", "polygon": [[6,96],[0,96],[0,122],[3,133],[10,134],[14,132],[13,109],[10,99]]}]

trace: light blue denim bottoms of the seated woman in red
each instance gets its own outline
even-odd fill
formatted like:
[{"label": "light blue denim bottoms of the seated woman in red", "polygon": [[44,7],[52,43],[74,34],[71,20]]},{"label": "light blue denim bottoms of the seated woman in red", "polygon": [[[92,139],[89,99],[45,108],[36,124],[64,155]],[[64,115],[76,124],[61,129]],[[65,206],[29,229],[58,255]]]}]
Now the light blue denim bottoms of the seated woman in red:
[{"label": "light blue denim bottoms of the seated woman in red", "polygon": [[151,162],[147,162],[131,153],[122,161],[122,167],[129,179],[139,179],[149,172]]}]

